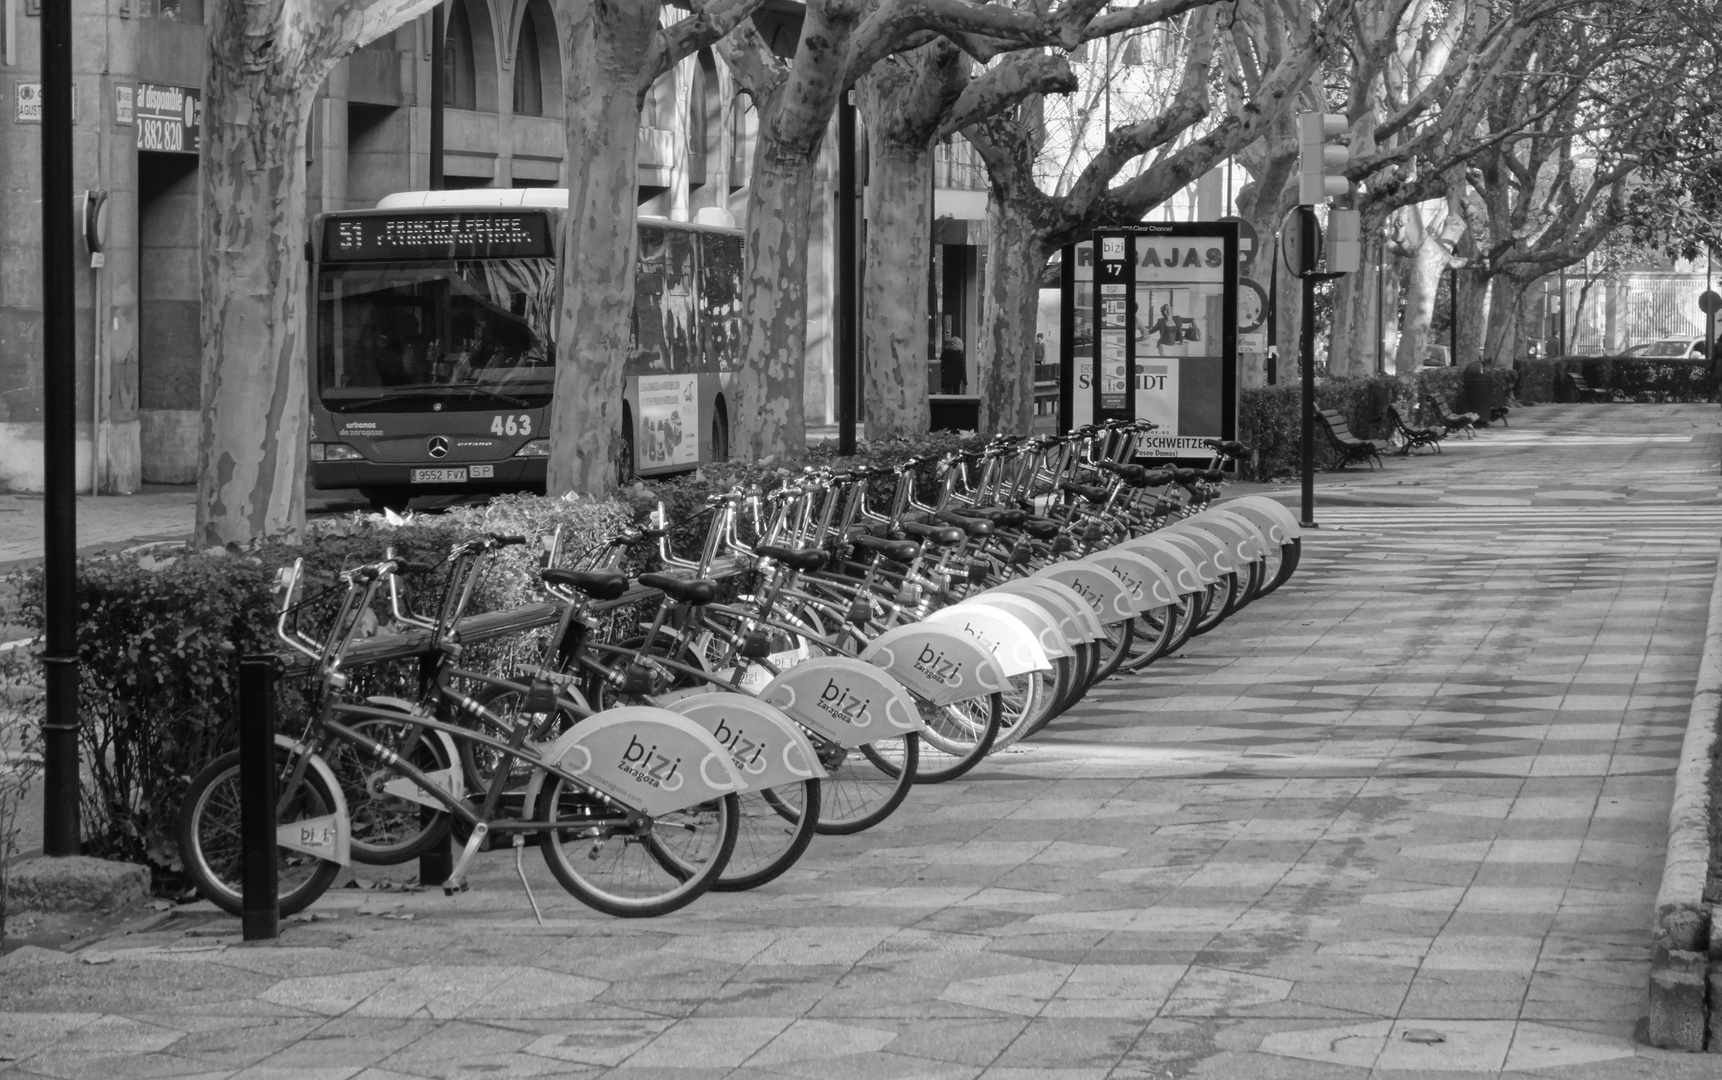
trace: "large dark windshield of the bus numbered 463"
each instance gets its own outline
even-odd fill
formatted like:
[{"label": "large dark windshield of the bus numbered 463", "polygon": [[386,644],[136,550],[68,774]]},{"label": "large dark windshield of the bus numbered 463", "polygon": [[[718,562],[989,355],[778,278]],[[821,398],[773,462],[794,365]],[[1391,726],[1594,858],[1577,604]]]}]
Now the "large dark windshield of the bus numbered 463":
[{"label": "large dark windshield of the bus numbered 463", "polygon": [[553,258],[324,265],[322,401],[334,410],[544,405],[558,286]]}]

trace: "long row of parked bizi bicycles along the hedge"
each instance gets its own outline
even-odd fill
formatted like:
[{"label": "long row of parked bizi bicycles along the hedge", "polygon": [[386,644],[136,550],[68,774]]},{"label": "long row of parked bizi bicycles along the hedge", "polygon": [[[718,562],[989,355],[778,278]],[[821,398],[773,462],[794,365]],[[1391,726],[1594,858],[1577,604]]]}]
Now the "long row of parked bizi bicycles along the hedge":
[{"label": "long row of parked bizi bicycles along the hedge", "polygon": [[[312,691],[301,730],[276,736],[281,913],[346,865],[453,837],[449,892],[479,853],[513,847],[537,913],[522,865],[536,846],[585,904],[653,916],[883,822],[914,784],[1033,737],[1297,568],[1286,508],[1212,505],[1247,446],[1149,469],[1149,431],[999,438],[735,489],[709,500],[697,558],[672,549],[661,506],[589,551],[558,532],[546,603],[523,611],[468,613],[518,536],[468,539],[436,567],[391,551],[343,572],[320,608],[303,567],[284,570],[277,630]],[[661,568],[635,572],[651,556]],[[417,698],[365,692],[379,641],[408,642]],[[239,835],[231,753],[193,779],[179,842],[198,891],[232,913]]]}]

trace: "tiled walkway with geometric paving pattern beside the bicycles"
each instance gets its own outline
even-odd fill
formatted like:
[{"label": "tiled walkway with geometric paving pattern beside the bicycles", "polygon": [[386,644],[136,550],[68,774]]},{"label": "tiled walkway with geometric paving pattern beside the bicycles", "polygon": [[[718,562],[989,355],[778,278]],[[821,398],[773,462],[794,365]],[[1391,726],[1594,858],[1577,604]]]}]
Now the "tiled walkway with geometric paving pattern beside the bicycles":
[{"label": "tiled walkway with geometric paving pattern beside the bicycles", "polygon": [[756,894],[615,922],[532,860],[541,928],[498,854],[274,947],[19,953],[0,1077],[1722,1075],[1631,1037],[1722,441],[1598,412],[1703,429],[1448,455],[1515,506],[1324,503],[1292,586]]}]

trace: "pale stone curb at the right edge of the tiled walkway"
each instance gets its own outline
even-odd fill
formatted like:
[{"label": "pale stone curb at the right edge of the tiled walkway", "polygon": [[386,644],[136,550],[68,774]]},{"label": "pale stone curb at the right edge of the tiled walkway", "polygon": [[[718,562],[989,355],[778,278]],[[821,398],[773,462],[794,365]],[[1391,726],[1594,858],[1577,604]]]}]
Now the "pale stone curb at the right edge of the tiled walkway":
[{"label": "pale stone curb at the right edge of the tiled walkway", "polygon": [[[1693,708],[1674,770],[1674,801],[1669,806],[1669,851],[1657,889],[1651,923],[1650,1021],[1651,1046],[1676,1051],[1705,1049],[1712,1020],[1707,990],[1722,973],[1710,973],[1710,908],[1705,882],[1710,872],[1710,754],[1722,718],[1722,551],[1710,587],[1710,618],[1693,687]],[[1719,942],[1722,944],[1722,942]],[[1722,965],[1719,965],[1722,968]],[[1722,1001],[1722,985],[1717,987]],[[1722,1030],[1710,1039],[1722,1051]]]}]

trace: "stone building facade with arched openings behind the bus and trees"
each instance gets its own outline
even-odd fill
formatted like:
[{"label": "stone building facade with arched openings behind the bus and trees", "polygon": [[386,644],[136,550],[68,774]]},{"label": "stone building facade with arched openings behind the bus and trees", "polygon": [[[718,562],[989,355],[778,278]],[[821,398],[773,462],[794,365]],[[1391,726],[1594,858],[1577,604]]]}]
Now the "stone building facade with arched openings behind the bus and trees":
[{"label": "stone building facade with arched openings behind the bus and trees", "polygon": [[[41,124],[38,0],[0,0],[0,489],[40,491]],[[98,257],[79,248],[77,477],[126,493],[196,479],[198,133],[205,0],[79,5],[74,186],[105,193]],[[449,0],[344,60],[313,109],[307,210],[370,207],[429,183],[430,65],[444,76],[444,184],[561,184],[556,17],[548,0]],[[642,214],[740,220],[756,117],[709,50],[658,81],[642,114]],[[830,155],[828,155],[830,157]],[[830,162],[828,162],[830,165]],[[830,179],[832,169],[825,169]],[[830,200],[815,220],[808,419],[833,417]],[[98,264],[98,265],[91,265]],[[823,269],[823,272],[818,272]]]}]

